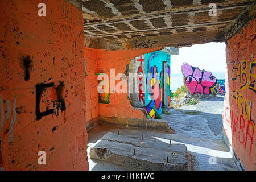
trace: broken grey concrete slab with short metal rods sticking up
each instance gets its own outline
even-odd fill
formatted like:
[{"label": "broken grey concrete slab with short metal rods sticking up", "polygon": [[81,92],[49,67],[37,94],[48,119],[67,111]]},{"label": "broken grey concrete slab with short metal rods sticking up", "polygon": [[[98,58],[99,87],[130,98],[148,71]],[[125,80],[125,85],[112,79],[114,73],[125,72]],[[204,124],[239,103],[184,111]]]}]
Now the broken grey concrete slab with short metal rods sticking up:
[{"label": "broken grey concrete slab with short metal rods sticking up", "polygon": [[[134,155],[135,150],[135,155]],[[167,162],[168,157],[168,162]],[[187,170],[189,155],[183,144],[167,144],[154,138],[107,133],[90,149],[90,158],[139,170]]]}]

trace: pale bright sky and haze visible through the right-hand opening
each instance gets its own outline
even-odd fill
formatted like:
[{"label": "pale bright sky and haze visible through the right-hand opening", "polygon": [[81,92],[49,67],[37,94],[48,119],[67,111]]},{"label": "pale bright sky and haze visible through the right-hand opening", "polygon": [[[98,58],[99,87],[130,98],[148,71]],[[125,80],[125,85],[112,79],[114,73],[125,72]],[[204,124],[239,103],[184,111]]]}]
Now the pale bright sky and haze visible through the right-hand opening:
[{"label": "pale bright sky and haze visible through the right-hand opening", "polygon": [[171,56],[171,90],[183,85],[181,65],[186,62],[199,69],[212,72],[217,79],[225,78],[226,44],[207,43],[179,48],[179,55]]}]

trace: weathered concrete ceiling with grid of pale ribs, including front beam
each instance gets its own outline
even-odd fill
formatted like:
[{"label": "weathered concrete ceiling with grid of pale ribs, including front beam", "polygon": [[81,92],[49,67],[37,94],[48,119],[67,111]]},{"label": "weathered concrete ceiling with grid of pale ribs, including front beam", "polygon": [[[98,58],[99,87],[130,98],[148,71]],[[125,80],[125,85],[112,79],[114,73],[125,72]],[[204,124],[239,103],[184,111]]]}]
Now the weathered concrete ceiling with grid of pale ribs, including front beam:
[{"label": "weathered concrete ceiling with grid of pale ribs, including front beam", "polygon": [[[217,16],[209,16],[216,3]],[[253,7],[253,12],[251,9]],[[184,47],[225,42],[250,0],[82,0],[85,46],[101,49]],[[250,16],[250,17],[249,17]]]}]

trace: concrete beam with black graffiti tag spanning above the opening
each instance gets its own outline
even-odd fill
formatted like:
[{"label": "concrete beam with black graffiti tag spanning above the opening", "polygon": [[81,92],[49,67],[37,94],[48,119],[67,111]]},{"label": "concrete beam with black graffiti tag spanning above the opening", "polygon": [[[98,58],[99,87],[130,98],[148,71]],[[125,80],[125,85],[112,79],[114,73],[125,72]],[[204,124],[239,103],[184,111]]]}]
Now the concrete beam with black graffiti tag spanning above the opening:
[{"label": "concrete beam with black graffiti tag spanning above the opening", "polygon": [[179,34],[143,36],[127,41],[111,41],[102,38],[88,39],[85,46],[97,49],[142,49],[142,48],[163,48],[163,47],[187,47],[193,44],[203,44],[209,42],[225,42],[225,30],[200,31],[200,32],[181,32]]}]

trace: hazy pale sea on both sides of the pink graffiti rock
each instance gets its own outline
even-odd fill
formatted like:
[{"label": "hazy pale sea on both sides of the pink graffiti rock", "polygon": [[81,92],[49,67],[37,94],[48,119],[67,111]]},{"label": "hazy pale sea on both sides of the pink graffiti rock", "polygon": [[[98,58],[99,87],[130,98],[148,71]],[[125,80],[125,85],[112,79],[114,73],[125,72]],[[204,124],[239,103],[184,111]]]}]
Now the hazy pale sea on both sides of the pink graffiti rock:
[{"label": "hazy pale sea on both sides of the pink graffiti rock", "polygon": [[[217,79],[225,79],[225,73],[224,72],[212,72],[212,75],[214,75]],[[183,74],[172,74],[171,73],[171,90],[172,92],[175,92],[177,88],[183,86]]]}]

